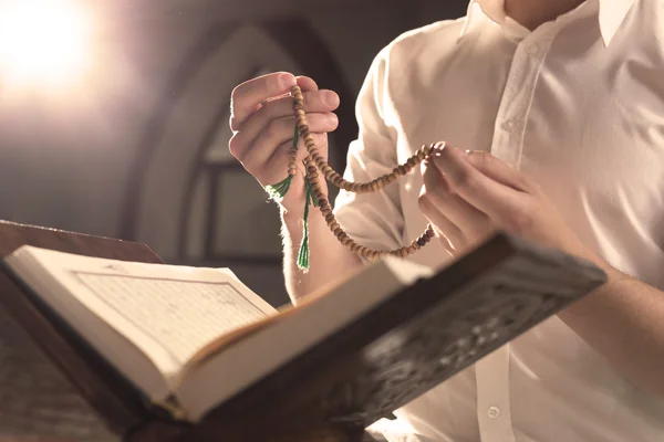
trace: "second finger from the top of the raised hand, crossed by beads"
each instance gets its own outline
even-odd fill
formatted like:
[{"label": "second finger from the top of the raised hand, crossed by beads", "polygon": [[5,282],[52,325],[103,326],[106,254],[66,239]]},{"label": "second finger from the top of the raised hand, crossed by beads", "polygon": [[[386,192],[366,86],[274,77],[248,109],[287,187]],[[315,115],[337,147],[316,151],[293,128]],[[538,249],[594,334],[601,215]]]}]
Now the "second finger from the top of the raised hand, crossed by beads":
[{"label": "second finger from the top of the raised hand, crossed by beads", "polygon": [[[312,91],[304,95],[304,110],[307,119],[315,113],[328,114],[328,118],[336,119],[336,115],[332,110],[339,105],[339,96],[332,91]],[[292,97],[283,97],[269,103],[266,103],[242,125],[242,129],[236,133],[237,137],[234,145],[229,146],[231,151],[242,155],[242,150],[251,146],[258,135],[272,120],[294,115]],[[311,123],[311,122],[310,122]],[[339,123],[339,122],[336,122]],[[294,124],[294,123],[293,123]],[[235,154],[234,154],[235,155]]]}]

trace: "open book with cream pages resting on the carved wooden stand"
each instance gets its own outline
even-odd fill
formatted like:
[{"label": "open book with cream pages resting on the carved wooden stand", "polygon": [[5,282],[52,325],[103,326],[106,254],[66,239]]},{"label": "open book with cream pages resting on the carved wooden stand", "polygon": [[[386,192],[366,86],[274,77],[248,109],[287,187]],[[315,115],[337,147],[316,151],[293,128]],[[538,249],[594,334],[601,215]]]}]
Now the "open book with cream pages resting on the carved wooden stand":
[{"label": "open book with cream pages resting on the carved wooden stand", "polygon": [[228,269],[123,262],[30,245],[4,261],[155,404],[194,422],[381,298],[430,275],[426,267],[388,259],[329,293],[333,303],[315,305],[320,295],[312,295],[298,308],[277,311]]}]

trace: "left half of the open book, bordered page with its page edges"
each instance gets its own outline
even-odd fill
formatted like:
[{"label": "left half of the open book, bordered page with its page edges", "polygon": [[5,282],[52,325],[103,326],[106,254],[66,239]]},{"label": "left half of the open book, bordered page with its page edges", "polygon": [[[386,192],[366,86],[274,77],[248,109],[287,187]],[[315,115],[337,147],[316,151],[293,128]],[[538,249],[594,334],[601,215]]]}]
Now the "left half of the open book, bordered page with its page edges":
[{"label": "left half of the open book, bordered page with its page edges", "polygon": [[[80,336],[155,396],[165,393],[164,380],[174,382],[210,341],[277,314],[228,269],[124,262],[29,245],[6,262]],[[151,375],[154,368],[164,380]]]}]

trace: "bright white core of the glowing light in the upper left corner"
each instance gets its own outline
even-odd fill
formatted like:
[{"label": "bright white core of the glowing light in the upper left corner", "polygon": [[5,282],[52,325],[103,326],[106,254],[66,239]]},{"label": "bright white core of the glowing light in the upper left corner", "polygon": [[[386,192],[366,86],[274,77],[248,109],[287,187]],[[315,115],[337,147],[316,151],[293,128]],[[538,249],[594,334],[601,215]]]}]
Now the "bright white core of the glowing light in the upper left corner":
[{"label": "bright white core of the glowing light in the upper left corner", "polygon": [[0,88],[75,82],[91,55],[90,31],[73,0],[0,0]]}]

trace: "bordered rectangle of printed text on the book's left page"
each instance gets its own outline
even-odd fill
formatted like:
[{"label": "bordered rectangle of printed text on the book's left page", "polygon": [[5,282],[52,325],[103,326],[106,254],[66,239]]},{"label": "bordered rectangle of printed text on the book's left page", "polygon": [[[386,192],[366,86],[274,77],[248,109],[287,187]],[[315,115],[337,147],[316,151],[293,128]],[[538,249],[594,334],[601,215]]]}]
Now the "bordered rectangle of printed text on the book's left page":
[{"label": "bordered rectangle of printed text on the book's left page", "polygon": [[229,283],[73,273],[179,365],[210,340],[267,316]]}]

